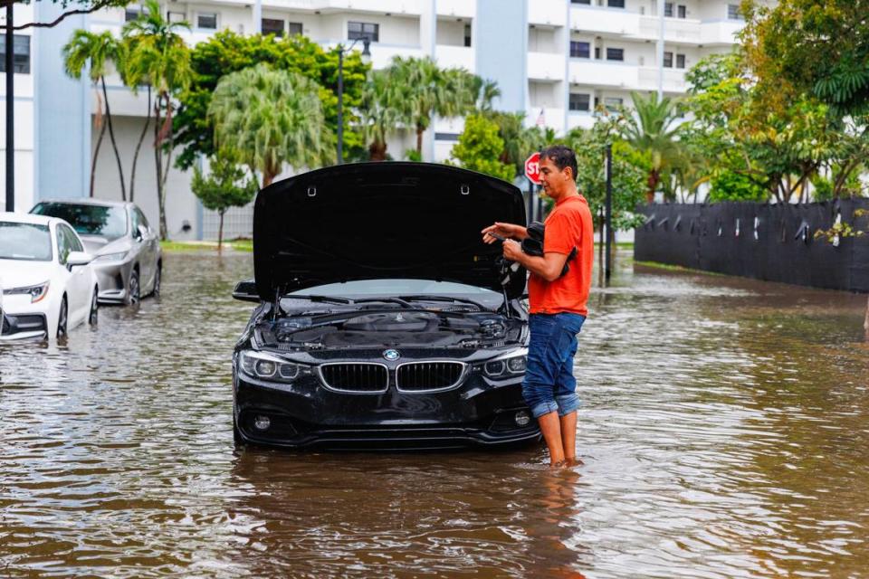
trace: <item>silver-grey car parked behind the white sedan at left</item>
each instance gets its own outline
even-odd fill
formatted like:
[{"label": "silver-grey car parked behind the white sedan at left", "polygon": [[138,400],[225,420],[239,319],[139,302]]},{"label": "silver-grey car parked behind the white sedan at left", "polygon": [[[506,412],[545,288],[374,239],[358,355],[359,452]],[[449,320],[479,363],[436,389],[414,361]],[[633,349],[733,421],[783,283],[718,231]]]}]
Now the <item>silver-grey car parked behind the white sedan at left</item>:
[{"label": "silver-grey car parked behind the white sedan at left", "polygon": [[136,204],[96,199],[41,201],[32,214],[60,217],[96,256],[100,303],[135,304],[160,293],[163,252],[157,232]]}]

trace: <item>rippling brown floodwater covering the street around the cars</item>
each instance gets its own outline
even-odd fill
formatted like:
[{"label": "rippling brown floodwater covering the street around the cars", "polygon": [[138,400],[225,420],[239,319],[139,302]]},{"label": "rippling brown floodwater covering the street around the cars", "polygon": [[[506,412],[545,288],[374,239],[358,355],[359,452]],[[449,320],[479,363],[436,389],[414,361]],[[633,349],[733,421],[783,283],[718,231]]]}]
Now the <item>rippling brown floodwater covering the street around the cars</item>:
[{"label": "rippling brown floodwater covering the street around the cars", "polygon": [[578,454],[236,451],[250,254],[0,346],[2,577],[869,576],[865,296],[619,255],[580,335]]}]

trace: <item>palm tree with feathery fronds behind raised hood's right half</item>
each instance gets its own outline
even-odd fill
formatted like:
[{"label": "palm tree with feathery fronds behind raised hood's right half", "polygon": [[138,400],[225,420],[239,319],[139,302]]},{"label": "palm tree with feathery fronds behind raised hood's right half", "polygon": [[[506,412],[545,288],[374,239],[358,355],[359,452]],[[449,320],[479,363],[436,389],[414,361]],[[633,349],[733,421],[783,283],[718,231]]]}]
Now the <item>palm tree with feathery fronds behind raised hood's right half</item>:
[{"label": "palm tree with feathery fronds behind raised hood's right half", "polygon": [[430,57],[396,56],[390,68],[395,79],[393,102],[398,113],[416,130],[416,154],[423,153],[423,133],[435,115],[455,117],[473,110],[475,77],[463,69],[442,70]]}]

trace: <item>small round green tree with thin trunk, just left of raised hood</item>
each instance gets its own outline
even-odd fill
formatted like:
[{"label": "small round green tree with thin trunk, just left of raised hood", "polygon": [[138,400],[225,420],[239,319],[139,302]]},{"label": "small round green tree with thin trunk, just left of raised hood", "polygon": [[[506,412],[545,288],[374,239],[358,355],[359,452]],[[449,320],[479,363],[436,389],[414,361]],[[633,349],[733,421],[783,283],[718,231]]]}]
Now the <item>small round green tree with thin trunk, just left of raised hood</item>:
[{"label": "small round green tree with thin trunk, just left of raised hood", "polygon": [[239,166],[237,154],[221,150],[211,157],[208,176],[203,176],[198,166],[193,167],[190,188],[205,209],[220,215],[217,230],[217,251],[220,251],[224,242],[224,214],[230,207],[251,203],[257,192],[256,179]]}]

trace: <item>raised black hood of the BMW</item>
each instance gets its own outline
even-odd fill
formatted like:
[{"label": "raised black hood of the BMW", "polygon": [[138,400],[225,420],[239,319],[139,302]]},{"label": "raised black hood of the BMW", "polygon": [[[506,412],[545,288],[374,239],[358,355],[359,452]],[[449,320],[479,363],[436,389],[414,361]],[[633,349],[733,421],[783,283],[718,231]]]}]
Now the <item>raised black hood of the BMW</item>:
[{"label": "raised black hood of the BMW", "polygon": [[[525,223],[520,190],[453,166],[329,166],[273,183],[256,196],[253,273],[261,299],[325,283],[444,280],[501,292],[501,243],[480,231]],[[525,271],[510,272],[510,298]]]}]

